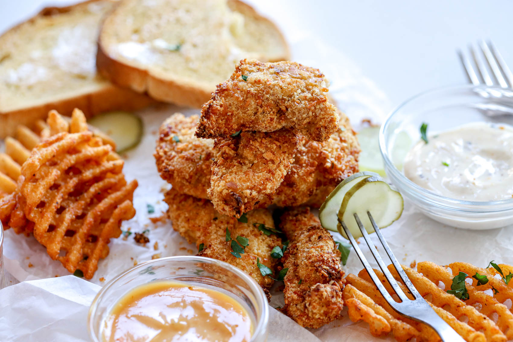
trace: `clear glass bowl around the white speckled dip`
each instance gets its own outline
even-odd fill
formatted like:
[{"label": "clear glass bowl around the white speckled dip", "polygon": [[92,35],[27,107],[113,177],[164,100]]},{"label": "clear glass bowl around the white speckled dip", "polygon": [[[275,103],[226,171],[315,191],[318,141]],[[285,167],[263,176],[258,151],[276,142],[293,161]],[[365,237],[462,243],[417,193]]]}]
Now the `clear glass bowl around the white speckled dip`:
[{"label": "clear glass bowl around the white speckled dip", "polygon": [[444,197],[413,183],[403,174],[407,151],[420,141],[420,126],[429,134],[469,122],[513,126],[513,90],[490,86],[456,86],[423,92],[394,109],[380,130],[385,172],[399,192],[425,215],[441,223],[473,230],[513,224],[513,198],[473,202]]}]

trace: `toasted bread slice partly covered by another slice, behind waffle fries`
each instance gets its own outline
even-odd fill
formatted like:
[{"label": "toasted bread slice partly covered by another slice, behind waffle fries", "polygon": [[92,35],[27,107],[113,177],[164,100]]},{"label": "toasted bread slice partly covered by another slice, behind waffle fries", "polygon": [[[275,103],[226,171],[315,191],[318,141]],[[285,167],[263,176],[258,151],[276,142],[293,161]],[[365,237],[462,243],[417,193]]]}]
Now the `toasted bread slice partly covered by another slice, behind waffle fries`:
[{"label": "toasted bread slice partly covered by another slice, behind waffle fries", "polygon": [[112,0],[51,7],[0,36],[0,138],[32,128],[48,111],[87,116],[134,110],[151,100],[96,73],[96,40]]}]

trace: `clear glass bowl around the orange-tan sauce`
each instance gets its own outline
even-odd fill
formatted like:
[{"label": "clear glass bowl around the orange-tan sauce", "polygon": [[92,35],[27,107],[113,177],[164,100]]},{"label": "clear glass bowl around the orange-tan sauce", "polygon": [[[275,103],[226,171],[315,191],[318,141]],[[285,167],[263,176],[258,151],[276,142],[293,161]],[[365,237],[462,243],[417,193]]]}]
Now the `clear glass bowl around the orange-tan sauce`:
[{"label": "clear glass bowl around the orange-tan sauce", "polygon": [[252,316],[251,342],[267,340],[269,308],[262,288],[249,275],[227,262],[200,256],[173,256],[141,263],[107,283],[89,309],[88,329],[93,342],[104,342],[104,323],[114,304],[127,292],[156,280],[178,280],[223,292]]}]

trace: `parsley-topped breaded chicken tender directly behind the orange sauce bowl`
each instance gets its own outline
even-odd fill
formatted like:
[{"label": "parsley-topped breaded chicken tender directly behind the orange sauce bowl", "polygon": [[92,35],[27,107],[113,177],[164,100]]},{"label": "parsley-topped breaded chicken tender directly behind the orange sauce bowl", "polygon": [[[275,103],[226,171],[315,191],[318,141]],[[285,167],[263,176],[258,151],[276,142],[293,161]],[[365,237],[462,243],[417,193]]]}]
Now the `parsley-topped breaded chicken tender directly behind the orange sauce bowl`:
[{"label": "parsley-topped breaded chicken tender directly behind the orange sauce bowl", "polygon": [[[263,288],[272,285],[274,281],[269,277],[262,277],[257,267],[258,259],[274,270],[279,260],[271,257],[271,251],[274,246],[282,246],[280,238],[275,235],[265,235],[257,228],[256,223],[274,228],[272,216],[266,209],[248,212],[247,223],[244,223],[234,217],[216,212],[210,201],[180,194],[174,188],[166,193],[164,200],[169,205],[168,215],[173,229],[189,243],[196,243],[199,249],[203,244],[203,250],[198,255],[226,261],[238,267]],[[248,239],[244,254],[240,254],[241,258],[231,254],[233,252],[231,244],[237,242],[226,241],[226,230],[233,240],[238,236]]]}]

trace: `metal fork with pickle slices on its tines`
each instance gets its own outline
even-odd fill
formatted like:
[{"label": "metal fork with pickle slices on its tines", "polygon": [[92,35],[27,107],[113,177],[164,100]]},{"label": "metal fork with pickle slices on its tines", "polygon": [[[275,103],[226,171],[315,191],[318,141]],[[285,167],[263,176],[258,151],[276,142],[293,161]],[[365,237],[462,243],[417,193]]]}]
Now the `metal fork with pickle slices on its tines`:
[{"label": "metal fork with pickle slices on its tines", "polygon": [[387,303],[390,305],[390,307],[400,313],[401,315],[404,315],[408,318],[411,318],[413,320],[423,322],[433,328],[440,338],[444,342],[464,342],[465,340],[458,335],[458,333],[453,330],[438,314],[433,310],[428,302],[420,295],[419,291],[413,286],[410,279],[404,272],[403,268],[401,267],[401,264],[399,264],[399,261],[397,261],[397,258],[393,255],[392,250],[390,250],[390,247],[388,246],[388,243],[385,241],[385,238],[383,237],[383,234],[381,234],[381,231],[379,230],[378,226],[376,225],[376,221],[372,218],[372,215],[370,215],[369,212],[367,212],[367,215],[369,216],[370,222],[372,223],[372,226],[374,227],[374,231],[376,231],[376,234],[378,235],[378,238],[381,241],[381,244],[385,248],[385,251],[392,261],[393,267],[396,268],[397,273],[403,280],[405,286],[408,288],[408,291],[411,293],[411,295],[415,298],[413,300],[409,299],[406,294],[401,290],[399,287],[399,284],[397,283],[396,279],[393,278],[392,274],[386,267],[386,264],[383,262],[383,259],[378,253],[378,250],[376,249],[376,246],[374,246],[374,243],[370,240],[369,235],[367,234],[367,231],[365,230],[365,227],[362,224],[362,221],[360,221],[360,218],[357,214],[354,214],[354,218],[356,219],[356,222],[358,223],[358,226],[360,227],[360,231],[362,232],[363,238],[365,239],[365,242],[367,242],[367,245],[369,246],[370,251],[372,252],[372,255],[374,256],[374,259],[378,262],[378,265],[385,275],[386,279],[390,283],[390,286],[396,292],[397,296],[401,299],[401,302],[395,301],[392,296],[387,292],[383,284],[381,283],[380,279],[374,273],[374,270],[370,266],[367,259],[365,259],[365,256],[362,253],[362,250],[358,246],[358,243],[356,240],[354,240],[354,237],[349,232],[349,229],[347,229],[346,224],[344,221],[340,220],[339,223],[342,225],[342,228],[344,229],[344,232],[346,233],[347,237],[349,238],[349,241],[351,242],[354,251],[356,251],[358,257],[363,263],[363,266],[369,273],[370,278],[380,291],[381,295]]}]

